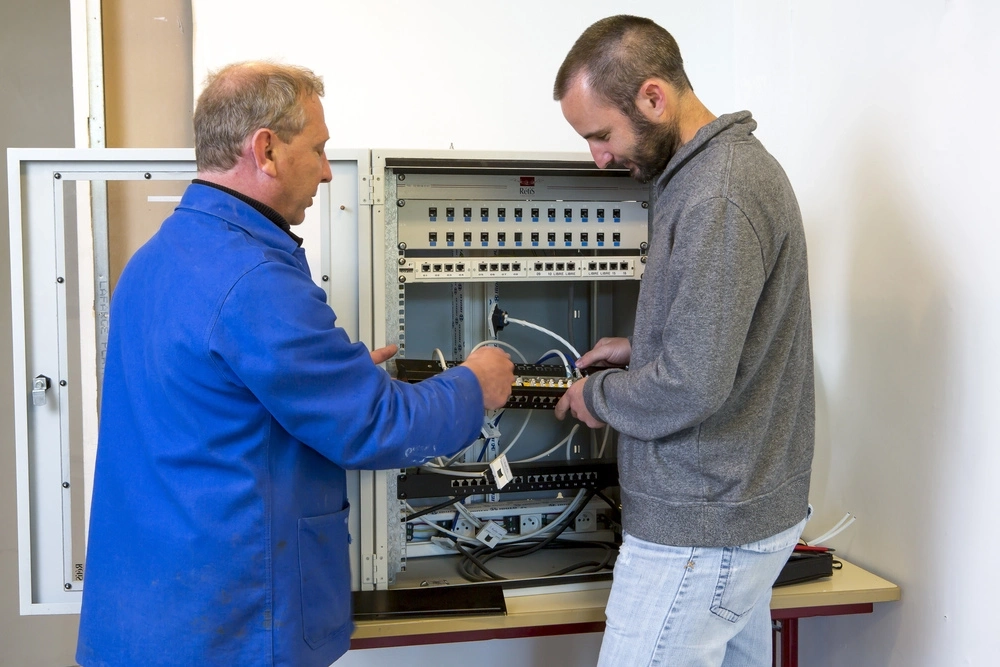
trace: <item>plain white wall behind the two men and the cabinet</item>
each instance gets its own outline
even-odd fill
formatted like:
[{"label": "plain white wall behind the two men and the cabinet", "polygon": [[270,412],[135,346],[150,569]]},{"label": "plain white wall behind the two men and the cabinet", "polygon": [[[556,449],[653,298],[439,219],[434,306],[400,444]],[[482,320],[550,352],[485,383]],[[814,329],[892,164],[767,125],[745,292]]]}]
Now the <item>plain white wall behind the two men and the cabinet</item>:
[{"label": "plain white wall behind the two men and the cabinet", "polygon": [[270,18],[294,39],[232,38],[265,4],[196,2],[195,81],[236,59],[311,66],[345,146],[584,150],[550,92],[575,38],[609,11],[673,32],[699,96],[753,110],[799,195],[818,401],[806,535],[855,513],[832,544],[903,588],[873,616],[803,621],[803,664],[995,662],[997,3],[287,0]]}]

